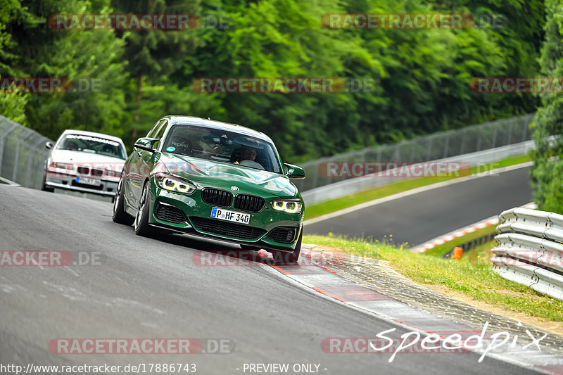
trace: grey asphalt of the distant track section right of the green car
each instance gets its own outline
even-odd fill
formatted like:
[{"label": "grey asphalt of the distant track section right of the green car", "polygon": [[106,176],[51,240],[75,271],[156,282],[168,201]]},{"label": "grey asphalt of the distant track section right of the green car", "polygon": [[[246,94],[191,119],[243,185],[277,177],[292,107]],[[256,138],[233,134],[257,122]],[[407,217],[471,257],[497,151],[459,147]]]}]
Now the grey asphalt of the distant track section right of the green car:
[{"label": "grey asphalt of the distant track section right of the green car", "polygon": [[[350,237],[389,238],[416,246],[503,210],[531,201],[529,167],[469,179],[394,201],[372,205],[313,224],[306,234],[346,234]],[[305,211],[305,220],[307,212]]]}]

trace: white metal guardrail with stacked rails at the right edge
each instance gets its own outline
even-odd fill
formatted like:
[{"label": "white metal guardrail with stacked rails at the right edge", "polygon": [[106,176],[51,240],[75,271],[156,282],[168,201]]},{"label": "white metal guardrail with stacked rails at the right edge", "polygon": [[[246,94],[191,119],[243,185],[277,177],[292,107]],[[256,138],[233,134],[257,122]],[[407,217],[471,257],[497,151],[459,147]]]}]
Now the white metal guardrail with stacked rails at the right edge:
[{"label": "white metal guardrail with stacked rails at the right edge", "polygon": [[512,208],[499,215],[493,270],[563,300],[563,215]]}]

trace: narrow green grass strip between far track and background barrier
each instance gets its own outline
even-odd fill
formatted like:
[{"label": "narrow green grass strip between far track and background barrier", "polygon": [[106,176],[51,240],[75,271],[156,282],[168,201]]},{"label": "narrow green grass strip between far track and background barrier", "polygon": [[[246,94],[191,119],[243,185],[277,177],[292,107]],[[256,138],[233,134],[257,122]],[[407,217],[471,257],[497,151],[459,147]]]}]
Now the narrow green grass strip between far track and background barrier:
[{"label": "narrow green grass strip between far track and background barrier", "polygon": [[[312,219],[313,217],[318,217],[338,210],[343,210],[344,208],[349,208],[352,207],[353,205],[358,205],[360,203],[373,201],[374,199],[383,198],[384,196],[391,196],[393,194],[401,193],[403,191],[407,191],[411,189],[416,189],[421,186],[436,184],[437,182],[444,182],[450,179],[456,179],[459,177],[467,176],[468,174],[476,174],[486,170],[526,163],[530,160],[531,158],[528,155],[523,155],[514,158],[502,159],[498,162],[489,163],[487,165],[481,165],[479,167],[472,167],[470,172],[469,171],[462,172],[460,173],[459,176],[454,175],[450,177],[422,177],[418,179],[405,179],[396,182],[394,184],[381,186],[379,188],[371,189],[367,191],[362,191],[360,193],[355,193],[350,196],[344,196],[341,198],[333,199],[331,201],[317,203],[314,205],[308,205],[305,214],[307,219]],[[369,178],[369,177],[365,177],[365,178]]]}]

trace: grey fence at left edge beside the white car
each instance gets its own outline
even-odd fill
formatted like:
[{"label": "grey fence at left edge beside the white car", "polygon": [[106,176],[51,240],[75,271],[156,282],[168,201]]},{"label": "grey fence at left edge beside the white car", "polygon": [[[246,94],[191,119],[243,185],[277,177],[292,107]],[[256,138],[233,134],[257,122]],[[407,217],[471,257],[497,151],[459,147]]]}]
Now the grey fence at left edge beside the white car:
[{"label": "grey fence at left edge beside the white car", "polygon": [[0,176],[39,189],[51,139],[0,116]]}]

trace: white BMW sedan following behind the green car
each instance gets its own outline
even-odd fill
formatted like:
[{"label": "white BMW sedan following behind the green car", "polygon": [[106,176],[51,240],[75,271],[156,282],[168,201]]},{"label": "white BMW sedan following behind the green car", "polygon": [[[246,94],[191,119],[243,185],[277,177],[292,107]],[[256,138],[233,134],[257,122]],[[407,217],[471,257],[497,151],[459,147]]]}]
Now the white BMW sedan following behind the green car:
[{"label": "white BMW sedan following behind the green car", "polygon": [[115,196],[127,158],[123,141],[107,134],[65,130],[46,160],[42,190],[65,189]]}]

